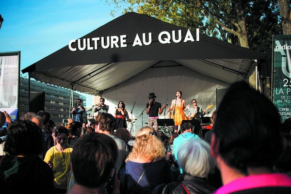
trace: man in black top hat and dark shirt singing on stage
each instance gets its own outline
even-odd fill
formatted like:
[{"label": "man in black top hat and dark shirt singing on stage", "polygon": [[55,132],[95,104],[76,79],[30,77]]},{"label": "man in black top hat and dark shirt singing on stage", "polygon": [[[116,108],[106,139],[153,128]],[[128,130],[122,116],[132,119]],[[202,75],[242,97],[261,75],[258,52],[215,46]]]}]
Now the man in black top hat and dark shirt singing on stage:
[{"label": "man in black top hat and dark shirt singing on stage", "polygon": [[149,101],[146,104],[146,114],[148,114],[148,126],[154,126],[153,128],[158,131],[159,127],[157,119],[159,118],[159,114],[162,114],[162,111],[166,108],[166,105],[161,105],[160,102],[156,102],[155,93],[149,93],[148,99]]}]

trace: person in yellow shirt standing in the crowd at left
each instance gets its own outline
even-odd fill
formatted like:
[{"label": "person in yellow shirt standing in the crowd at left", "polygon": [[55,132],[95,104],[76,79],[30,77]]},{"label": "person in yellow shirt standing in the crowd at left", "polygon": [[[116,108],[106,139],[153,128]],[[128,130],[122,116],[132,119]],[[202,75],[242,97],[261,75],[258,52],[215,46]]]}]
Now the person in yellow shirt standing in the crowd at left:
[{"label": "person in yellow shirt standing in the crowd at left", "polygon": [[52,168],[54,174],[55,192],[59,194],[66,193],[68,175],[70,172],[71,153],[73,146],[66,144],[69,136],[68,129],[59,127],[55,131],[56,146],[51,147],[44,159]]}]

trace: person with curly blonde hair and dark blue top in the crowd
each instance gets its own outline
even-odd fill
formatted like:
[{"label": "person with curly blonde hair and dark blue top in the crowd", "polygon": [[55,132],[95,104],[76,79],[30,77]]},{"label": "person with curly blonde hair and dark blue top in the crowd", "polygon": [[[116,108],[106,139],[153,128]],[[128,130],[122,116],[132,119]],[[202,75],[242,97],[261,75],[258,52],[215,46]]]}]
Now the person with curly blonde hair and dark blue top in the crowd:
[{"label": "person with curly blonde hair and dark blue top in the crowd", "polygon": [[143,127],[126,159],[125,193],[147,194],[159,184],[167,183],[170,173],[165,147],[152,127]]}]

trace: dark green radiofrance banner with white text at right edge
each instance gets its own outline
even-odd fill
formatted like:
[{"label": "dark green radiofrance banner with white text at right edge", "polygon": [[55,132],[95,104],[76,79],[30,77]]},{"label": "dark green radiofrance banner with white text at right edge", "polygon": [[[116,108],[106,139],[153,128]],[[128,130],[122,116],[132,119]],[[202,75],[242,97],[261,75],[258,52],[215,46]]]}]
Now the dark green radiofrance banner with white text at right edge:
[{"label": "dark green radiofrance banner with white text at right edge", "polygon": [[284,122],[291,118],[291,35],[275,35],[273,56],[273,103]]}]

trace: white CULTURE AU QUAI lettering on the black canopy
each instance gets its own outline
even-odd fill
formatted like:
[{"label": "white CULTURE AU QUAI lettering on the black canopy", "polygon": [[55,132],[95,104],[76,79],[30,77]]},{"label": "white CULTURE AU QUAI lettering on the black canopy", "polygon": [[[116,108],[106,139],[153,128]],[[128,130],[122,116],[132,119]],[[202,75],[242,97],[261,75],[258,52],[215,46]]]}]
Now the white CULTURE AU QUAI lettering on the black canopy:
[{"label": "white CULTURE AU QUAI lettering on the black canopy", "polygon": [[[77,51],[77,50],[97,50],[98,49],[98,43],[101,40],[101,47],[103,49],[110,48],[124,48],[127,47],[127,35],[120,35],[120,36],[102,36],[102,37],[93,37],[93,38],[83,38],[78,40],[70,40],[68,47],[71,51]],[[162,31],[158,35],[158,41],[161,44],[172,44],[172,43],[180,43],[182,41],[182,30],[178,30],[178,36],[176,31],[172,31],[172,34],[167,31]],[[194,37],[190,31],[190,29],[187,30],[185,37],[184,37],[184,43],[186,42],[194,42]],[[196,29],[196,42],[200,41],[200,34],[199,29]],[[152,43],[152,33],[147,32],[142,33],[142,39],[140,38],[140,35],[137,33],[135,35],[134,41],[132,43],[132,47],[135,46],[148,46]],[[72,45],[77,44],[77,46],[73,47]],[[100,44],[100,43],[99,43]]]}]

